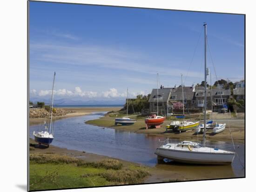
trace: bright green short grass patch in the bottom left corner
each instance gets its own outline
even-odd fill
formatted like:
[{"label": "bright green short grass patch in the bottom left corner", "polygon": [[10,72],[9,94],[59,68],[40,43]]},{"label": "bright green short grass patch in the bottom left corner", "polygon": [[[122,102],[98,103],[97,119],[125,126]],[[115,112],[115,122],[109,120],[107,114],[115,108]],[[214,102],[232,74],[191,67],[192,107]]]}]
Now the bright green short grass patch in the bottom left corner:
[{"label": "bright green short grass patch in the bottom left corner", "polygon": [[[74,188],[109,185],[104,178],[92,176],[83,178],[86,173],[102,173],[105,169],[78,167],[72,164],[30,164],[30,190]],[[47,177],[48,176],[48,177]],[[47,178],[46,178],[47,177]]]}]

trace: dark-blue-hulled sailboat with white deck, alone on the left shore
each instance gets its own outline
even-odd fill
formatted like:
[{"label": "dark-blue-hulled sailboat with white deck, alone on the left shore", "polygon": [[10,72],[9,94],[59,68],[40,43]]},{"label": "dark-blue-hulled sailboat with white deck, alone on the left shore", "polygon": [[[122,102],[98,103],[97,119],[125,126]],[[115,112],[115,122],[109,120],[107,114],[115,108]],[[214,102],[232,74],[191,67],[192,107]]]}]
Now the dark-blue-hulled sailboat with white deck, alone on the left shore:
[{"label": "dark-blue-hulled sailboat with white deck, alone on the left shore", "polygon": [[[55,72],[54,72],[54,83],[55,83]],[[40,131],[37,133],[33,132],[34,141],[36,141],[39,144],[47,145],[47,147],[49,147],[49,145],[54,140],[53,126],[52,126],[53,107],[54,107],[54,83],[53,83],[53,89],[52,89],[52,95],[51,95],[50,114],[48,117],[48,123],[46,123],[46,121],[44,122],[45,131]],[[49,132],[48,132],[48,129],[49,129]]]}]

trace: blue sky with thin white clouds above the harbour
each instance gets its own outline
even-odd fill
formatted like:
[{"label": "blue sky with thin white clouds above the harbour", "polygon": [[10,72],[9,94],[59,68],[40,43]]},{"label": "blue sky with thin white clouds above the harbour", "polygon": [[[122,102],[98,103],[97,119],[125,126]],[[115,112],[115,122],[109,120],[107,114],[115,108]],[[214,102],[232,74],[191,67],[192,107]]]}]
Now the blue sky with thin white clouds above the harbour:
[{"label": "blue sky with thin white clouds above the harbour", "polygon": [[49,97],[54,71],[56,97],[84,101],[148,94],[157,72],[201,83],[203,22],[218,78],[243,79],[243,15],[30,2],[30,96]]}]

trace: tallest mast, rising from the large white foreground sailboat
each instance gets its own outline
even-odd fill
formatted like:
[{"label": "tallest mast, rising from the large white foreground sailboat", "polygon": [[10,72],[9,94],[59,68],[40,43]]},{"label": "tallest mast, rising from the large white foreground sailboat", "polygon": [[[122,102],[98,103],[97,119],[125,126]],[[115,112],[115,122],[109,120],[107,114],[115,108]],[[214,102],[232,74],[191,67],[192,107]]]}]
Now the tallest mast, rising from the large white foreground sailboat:
[{"label": "tallest mast, rising from the large white foreground sailboat", "polygon": [[207,102],[207,95],[206,95],[206,66],[207,66],[207,24],[204,23],[204,119],[203,119],[203,145],[205,146],[205,137],[206,137],[206,102]]}]

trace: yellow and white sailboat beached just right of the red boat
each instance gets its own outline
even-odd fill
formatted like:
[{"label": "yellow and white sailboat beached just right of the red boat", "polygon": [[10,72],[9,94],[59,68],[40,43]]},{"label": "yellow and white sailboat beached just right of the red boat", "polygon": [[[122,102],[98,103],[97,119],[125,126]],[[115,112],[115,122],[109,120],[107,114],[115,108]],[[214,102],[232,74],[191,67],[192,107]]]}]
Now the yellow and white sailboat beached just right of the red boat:
[{"label": "yellow and white sailboat beached just right of the red boat", "polygon": [[166,125],[166,129],[172,129],[175,131],[187,131],[199,126],[199,122],[188,122],[185,121],[185,112],[184,112],[184,93],[183,93],[183,81],[182,81],[182,102],[183,102],[183,121],[173,121],[170,124]]}]

